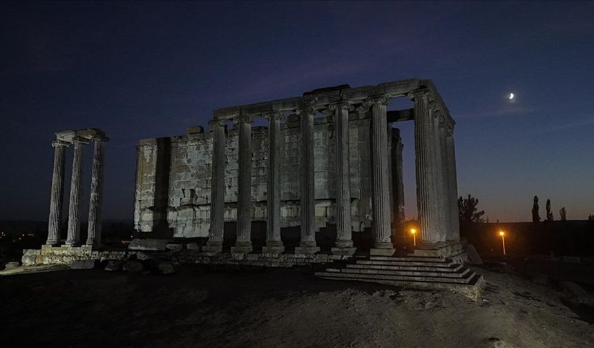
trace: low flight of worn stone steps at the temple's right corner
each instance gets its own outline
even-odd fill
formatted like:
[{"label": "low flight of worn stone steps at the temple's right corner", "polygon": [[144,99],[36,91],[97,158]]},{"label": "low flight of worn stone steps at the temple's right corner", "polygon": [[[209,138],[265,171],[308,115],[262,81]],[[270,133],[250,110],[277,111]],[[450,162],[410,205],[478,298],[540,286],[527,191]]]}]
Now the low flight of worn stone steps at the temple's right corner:
[{"label": "low flight of worn stone steps at the temple's right corner", "polygon": [[319,278],[378,282],[410,288],[449,289],[476,300],[484,286],[483,276],[449,258],[419,256],[365,256],[334,262]]}]

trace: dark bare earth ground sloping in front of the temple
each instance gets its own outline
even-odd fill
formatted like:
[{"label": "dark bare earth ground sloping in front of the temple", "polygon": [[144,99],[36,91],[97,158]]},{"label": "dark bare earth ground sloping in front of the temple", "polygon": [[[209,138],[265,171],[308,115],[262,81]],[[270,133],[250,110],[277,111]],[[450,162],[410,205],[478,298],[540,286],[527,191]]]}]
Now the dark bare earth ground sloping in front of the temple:
[{"label": "dark bare earth ground sloping in front of the temple", "polygon": [[1,276],[0,347],[594,347],[558,291],[478,271],[479,302],[309,268]]}]

